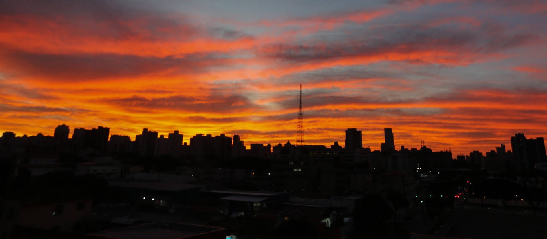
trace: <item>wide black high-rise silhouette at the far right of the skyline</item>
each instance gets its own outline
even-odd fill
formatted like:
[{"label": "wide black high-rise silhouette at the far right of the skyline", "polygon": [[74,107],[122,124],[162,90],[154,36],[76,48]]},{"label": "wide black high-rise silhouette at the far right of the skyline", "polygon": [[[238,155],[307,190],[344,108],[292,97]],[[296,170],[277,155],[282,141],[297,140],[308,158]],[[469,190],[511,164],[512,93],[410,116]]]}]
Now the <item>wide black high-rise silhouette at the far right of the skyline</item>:
[{"label": "wide black high-rise silhouette at the far right of the skyline", "polygon": [[527,139],[523,133],[511,137],[514,165],[517,171],[532,170],[536,162],[545,162],[545,142],[543,137]]}]

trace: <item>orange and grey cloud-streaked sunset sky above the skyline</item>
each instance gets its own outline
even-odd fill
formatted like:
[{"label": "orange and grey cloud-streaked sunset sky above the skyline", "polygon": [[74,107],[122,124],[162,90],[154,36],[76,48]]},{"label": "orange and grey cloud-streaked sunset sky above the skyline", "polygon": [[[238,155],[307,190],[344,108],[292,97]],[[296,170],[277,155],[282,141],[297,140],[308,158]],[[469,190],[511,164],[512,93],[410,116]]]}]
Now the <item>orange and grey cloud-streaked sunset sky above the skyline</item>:
[{"label": "orange and grey cloud-streaked sunset sky above the skyline", "polygon": [[0,3],[0,131],[489,151],[547,137],[544,0]]}]

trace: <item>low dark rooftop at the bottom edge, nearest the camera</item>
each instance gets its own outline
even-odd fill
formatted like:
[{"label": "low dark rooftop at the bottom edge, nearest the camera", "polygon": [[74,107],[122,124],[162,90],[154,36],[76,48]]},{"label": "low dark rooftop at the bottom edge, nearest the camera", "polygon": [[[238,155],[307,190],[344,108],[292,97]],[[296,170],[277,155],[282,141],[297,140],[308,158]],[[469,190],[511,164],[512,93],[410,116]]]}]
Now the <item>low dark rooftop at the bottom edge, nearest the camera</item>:
[{"label": "low dark rooftop at the bottom edge, nearest the camera", "polygon": [[[110,239],[183,239],[194,238],[201,234],[214,233],[218,238],[225,238],[224,228],[195,224],[182,224],[163,221],[161,223],[147,223],[127,228],[99,231],[88,234],[96,238]],[[216,237],[208,237],[216,238]]]}]

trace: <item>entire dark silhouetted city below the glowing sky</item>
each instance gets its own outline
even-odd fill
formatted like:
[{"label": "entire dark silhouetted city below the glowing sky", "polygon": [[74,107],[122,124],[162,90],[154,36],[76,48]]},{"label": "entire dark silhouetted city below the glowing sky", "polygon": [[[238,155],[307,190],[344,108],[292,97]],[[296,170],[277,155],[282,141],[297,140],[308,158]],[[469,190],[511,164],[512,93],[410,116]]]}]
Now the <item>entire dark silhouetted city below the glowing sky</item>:
[{"label": "entire dark silhouetted city below the glowing sky", "polygon": [[[149,129],[131,141],[109,130],[2,134],[5,238],[545,235],[542,137],[516,133],[510,148],[452,155],[423,142],[395,147],[396,129],[384,129],[381,150],[363,148],[358,129],[345,131],[345,147],[247,147],[224,134],[183,144],[179,131]],[[476,225],[482,220],[490,224]]]}]

